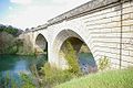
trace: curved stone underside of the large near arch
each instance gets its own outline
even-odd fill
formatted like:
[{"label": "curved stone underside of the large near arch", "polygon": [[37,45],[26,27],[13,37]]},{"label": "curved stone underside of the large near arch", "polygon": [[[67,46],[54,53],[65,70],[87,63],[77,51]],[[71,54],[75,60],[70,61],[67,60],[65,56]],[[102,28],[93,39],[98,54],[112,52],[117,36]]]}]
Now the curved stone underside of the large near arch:
[{"label": "curved stone underside of the large near arch", "polygon": [[[81,51],[81,47],[83,45],[85,45],[89,50],[89,52],[91,53],[91,50],[89,48],[89,45],[86,44],[86,42],[80,36],[80,34],[78,34],[76,32],[72,31],[72,30],[62,30],[61,32],[58,33],[58,35],[55,36],[55,40],[53,42],[53,52],[54,52],[54,56],[55,56],[55,62],[57,65],[61,68],[66,68],[68,64],[66,61],[64,59],[64,57],[62,58],[60,56],[60,52],[63,48],[63,46],[65,46],[65,42],[70,41],[74,51],[76,51],[76,53],[79,53]],[[92,53],[91,53],[92,54]],[[92,54],[93,56],[93,54]],[[94,61],[95,63],[95,61]],[[96,68],[96,63],[95,63],[95,68]]]}]

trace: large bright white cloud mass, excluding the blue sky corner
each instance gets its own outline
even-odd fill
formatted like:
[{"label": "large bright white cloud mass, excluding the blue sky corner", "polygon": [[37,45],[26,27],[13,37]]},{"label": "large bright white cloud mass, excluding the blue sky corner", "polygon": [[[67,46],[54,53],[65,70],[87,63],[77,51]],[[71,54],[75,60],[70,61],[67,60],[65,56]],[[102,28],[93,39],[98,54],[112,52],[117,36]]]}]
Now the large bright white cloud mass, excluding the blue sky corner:
[{"label": "large bright white cloud mass, excluding the blue sky corner", "polygon": [[[40,2],[40,6],[34,4],[33,0],[10,0],[14,3],[23,4],[23,9],[18,7],[12,10],[10,14],[3,20],[3,23],[14,25],[17,28],[25,29],[44,24],[49,19],[52,19],[68,10],[71,10],[80,4],[88,2],[89,0],[51,0],[50,4],[43,4],[45,1]],[[28,3],[33,4],[28,4]],[[28,4],[27,7],[24,4]]]}]

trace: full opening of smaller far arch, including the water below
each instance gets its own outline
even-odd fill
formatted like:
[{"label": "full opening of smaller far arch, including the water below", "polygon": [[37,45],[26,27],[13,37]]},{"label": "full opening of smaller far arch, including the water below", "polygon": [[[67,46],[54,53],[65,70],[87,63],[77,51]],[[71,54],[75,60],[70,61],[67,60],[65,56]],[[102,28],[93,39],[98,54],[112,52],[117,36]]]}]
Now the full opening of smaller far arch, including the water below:
[{"label": "full opening of smaller far arch, including the water below", "polygon": [[[41,33],[39,33],[35,37],[34,53],[35,53],[35,58],[38,58],[38,61],[35,61],[35,65],[32,65],[31,68],[37,68],[38,70],[40,70],[41,67],[49,61],[49,58],[48,58],[48,41],[44,37],[44,35],[42,35]],[[34,70],[32,70],[32,72],[34,72]]]}]

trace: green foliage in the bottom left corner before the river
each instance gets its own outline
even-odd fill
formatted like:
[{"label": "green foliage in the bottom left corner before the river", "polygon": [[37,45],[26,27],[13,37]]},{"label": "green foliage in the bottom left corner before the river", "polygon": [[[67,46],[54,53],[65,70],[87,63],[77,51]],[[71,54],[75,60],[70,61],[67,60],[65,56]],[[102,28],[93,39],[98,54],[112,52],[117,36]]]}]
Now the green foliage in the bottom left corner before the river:
[{"label": "green foliage in the bottom left corner before the river", "polygon": [[0,79],[0,88],[37,88],[30,76],[21,74],[19,77],[21,84],[18,84],[8,72],[7,75]]}]

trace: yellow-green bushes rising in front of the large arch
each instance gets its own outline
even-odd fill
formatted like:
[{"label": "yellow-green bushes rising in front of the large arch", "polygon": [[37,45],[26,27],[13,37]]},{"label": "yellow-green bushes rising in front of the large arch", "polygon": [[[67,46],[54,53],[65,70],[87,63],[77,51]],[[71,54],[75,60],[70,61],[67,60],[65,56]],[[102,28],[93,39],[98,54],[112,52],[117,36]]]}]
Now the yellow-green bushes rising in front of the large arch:
[{"label": "yellow-green bushes rising in front of the large arch", "polygon": [[44,66],[41,68],[41,74],[43,74],[42,77],[43,82],[45,82],[45,87],[53,87],[81,75],[76,57],[78,55],[70,42],[66,41],[65,47],[62,52],[64,53],[64,58],[69,64],[69,69],[62,70],[50,66],[49,63],[45,63]]}]

